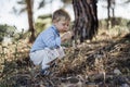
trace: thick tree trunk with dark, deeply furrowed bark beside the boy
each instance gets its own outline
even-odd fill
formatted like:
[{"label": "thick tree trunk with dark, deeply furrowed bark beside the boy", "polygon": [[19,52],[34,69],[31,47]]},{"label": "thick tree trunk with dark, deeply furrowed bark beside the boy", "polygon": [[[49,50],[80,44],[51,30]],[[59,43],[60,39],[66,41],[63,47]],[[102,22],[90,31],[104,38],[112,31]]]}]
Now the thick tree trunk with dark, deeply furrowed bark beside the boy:
[{"label": "thick tree trunk with dark, deeply furrowed bark beside the boy", "polygon": [[86,39],[92,39],[98,32],[98,12],[96,0],[73,0],[75,12],[74,39],[83,42]]}]

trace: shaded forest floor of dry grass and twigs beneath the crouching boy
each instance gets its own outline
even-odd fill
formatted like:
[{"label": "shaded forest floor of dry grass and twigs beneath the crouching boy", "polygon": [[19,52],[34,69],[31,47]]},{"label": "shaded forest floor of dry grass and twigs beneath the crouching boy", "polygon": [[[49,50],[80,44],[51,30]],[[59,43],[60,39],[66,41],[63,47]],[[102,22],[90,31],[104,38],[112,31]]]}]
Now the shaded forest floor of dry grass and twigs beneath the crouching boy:
[{"label": "shaded forest floor of dry grass and twigs beneath the crouching boy", "polygon": [[130,35],[102,34],[65,52],[50,76],[40,76],[29,57],[4,61],[0,87],[130,87]]}]

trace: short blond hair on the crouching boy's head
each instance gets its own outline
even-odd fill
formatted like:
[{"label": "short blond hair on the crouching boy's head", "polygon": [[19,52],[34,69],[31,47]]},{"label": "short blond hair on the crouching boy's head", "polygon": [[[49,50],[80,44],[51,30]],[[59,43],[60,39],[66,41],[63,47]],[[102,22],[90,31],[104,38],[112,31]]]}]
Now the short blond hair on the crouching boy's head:
[{"label": "short blond hair on the crouching boy's head", "polygon": [[56,10],[53,15],[52,15],[52,22],[53,21],[61,21],[61,20],[65,20],[65,21],[70,21],[70,16],[69,14],[63,10],[63,9],[60,9],[60,10]]}]

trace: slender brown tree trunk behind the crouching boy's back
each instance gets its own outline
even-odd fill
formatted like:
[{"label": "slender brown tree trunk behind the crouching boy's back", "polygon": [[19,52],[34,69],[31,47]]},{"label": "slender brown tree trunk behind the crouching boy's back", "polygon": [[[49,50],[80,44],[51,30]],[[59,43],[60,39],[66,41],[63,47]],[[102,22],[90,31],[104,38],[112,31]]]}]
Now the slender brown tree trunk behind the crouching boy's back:
[{"label": "slender brown tree trunk behind the crouching boy's back", "polygon": [[26,0],[27,3],[27,14],[28,14],[28,24],[29,24],[29,32],[31,33],[29,37],[29,42],[35,40],[35,28],[34,28],[34,20],[32,20],[32,4],[34,0]]}]

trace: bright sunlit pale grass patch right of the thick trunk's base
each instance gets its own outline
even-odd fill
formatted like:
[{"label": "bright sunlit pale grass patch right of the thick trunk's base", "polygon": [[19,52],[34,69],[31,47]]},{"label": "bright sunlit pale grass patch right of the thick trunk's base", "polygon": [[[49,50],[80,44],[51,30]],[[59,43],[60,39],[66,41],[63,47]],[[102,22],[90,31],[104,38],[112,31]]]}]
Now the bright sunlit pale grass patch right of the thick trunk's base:
[{"label": "bright sunlit pale grass patch right of the thick trunk's base", "polygon": [[125,26],[116,25],[109,29],[99,28],[99,33],[95,36],[95,38],[93,38],[93,40],[102,41],[102,40],[118,39],[127,34],[130,34],[130,30],[127,26],[125,27]]}]

